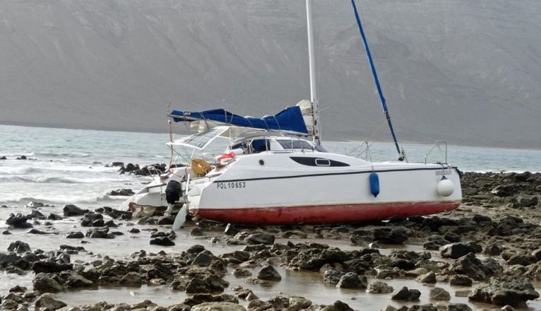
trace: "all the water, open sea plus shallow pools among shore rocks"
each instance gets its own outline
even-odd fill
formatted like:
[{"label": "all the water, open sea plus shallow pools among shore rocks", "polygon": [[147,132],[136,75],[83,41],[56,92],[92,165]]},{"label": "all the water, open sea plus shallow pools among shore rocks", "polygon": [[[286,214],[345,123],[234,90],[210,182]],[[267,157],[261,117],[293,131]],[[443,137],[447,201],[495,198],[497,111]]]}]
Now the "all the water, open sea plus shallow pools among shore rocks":
[{"label": "all the water, open sea plus shallow pools among shore rocks", "polygon": [[[99,206],[118,207],[126,197],[109,196],[107,192],[112,189],[131,188],[133,191],[148,183],[148,177],[119,174],[119,168],[109,166],[112,162],[138,163],[150,165],[154,163],[168,163],[170,148],[165,143],[170,140],[169,134],[133,133],[120,131],[90,131],[82,129],[50,129],[39,127],[16,127],[0,125],[0,230],[6,230],[6,218],[9,213],[30,213],[25,206],[30,201],[39,201],[49,204],[42,213],[62,213],[64,204],[76,204],[83,209],[94,209]],[[374,161],[396,160],[397,152],[392,143],[372,143],[369,153],[366,145],[360,148],[361,142],[355,141],[328,141],[323,146],[331,152],[371,158]],[[423,162],[424,155],[431,145],[404,143],[402,145],[410,162]],[[359,149],[360,148],[360,149]],[[359,150],[364,151],[359,154]],[[216,149],[213,152],[220,152]],[[25,155],[26,160],[16,160]],[[178,159],[189,158],[188,151],[181,151]],[[444,160],[445,148],[436,147],[427,160],[434,162]],[[541,151],[518,150],[504,148],[475,148],[464,146],[448,146],[448,163],[458,166],[465,171],[540,171]],[[138,228],[144,226],[138,225]],[[66,218],[54,221],[53,226],[35,225],[35,228],[44,230],[50,235],[32,235],[28,230],[11,230],[12,235],[0,236],[0,252],[5,251],[10,242],[22,240],[28,242],[32,250],[57,250],[61,244],[75,241],[66,241],[64,234],[71,230],[82,230],[78,219]],[[150,227],[149,227],[150,228]],[[153,226],[152,226],[153,228]],[[109,257],[123,258],[136,250],[158,252],[163,249],[156,245],[148,245],[148,236],[143,233],[132,235],[128,233],[126,224],[117,228],[124,235],[114,240],[90,239],[90,244],[84,247],[94,254],[107,254]],[[237,246],[212,244],[206,240],[194,240],[189,235],[190,228],[177,232],[176,246],[167,248],[167,253],[182,252],[194,244],[203,244],[214,254],[232,252]],[[82,230],[84,231],[84,230]],[[142,231],[143,232],[143,231]],[[86,239],[88,240],[88,239]],[[285,242],[285,241],[278,241]],[[295,241],[299,242],[299,241]],[[352,247],[347,241],[325,241],[329,245],[343,249]],[[340,245],[337,245],[340,244]],[[113,246],[113,247],[112,247]],[[422,247],[417,245],[421,251]],[[241,247],[241,246],[239,246]],[[239,248],[237,247],[237,248]],[[415,247],[415,245],[408,245]],[[390,251],[390,250],[388,250]],[[386,250],[381,250],[385,253]],[[434,252],[434,257],[439,256]],[[73,255],[72,260],[83,261],[92,258],[81,252]],[[251,287],[261,298],[270,298],[280,292],[295,293],[311,299],[314,303],[331,304],[334,300],[343,300],[357,310],[379,310],[388,304],[399,307],[400,304],[390,300],[390,295],[369,295],[364,291],[344,291],[333,286],[326,286],[317,272],[284,271],[283,281],[271,288],[262,286]],[[254,271],[255,272],[255,271]],[[32,287],[32,274],[17,276],[14,274],[0,275],[0,295],[6,293],[8,288],[16,284]],[[231,287],[244,284],[242,279],[227,276]],[[429,303],[429,287],[420,286],[415,281],[392,280],[391,286],[400,288],[410,286],[422,291],[420,303]],[[457,288],[448,284],[438,283],[453,295]],[[536,288],[539,288],[536,285]],[[226,293],[230,293],[228,289]],[[109,303],[128,302],[136,303],[144,299],[160,302],[162,305],[180,303],[186,295],[172,293],[167,286],[143,286],[136,290],[133,288],[103,288],[97,291],[70,291],[57,294],[57,297],[68,305],[90,304],[106,300]],[[355,299],[355,300],[352,300]],[[468,303],[467,298],[452,298],[453,302]],[[475,310],[484,305],[470,306]],[[536,300],[528,303],[527,310],[540,310],[541,303]]]}]

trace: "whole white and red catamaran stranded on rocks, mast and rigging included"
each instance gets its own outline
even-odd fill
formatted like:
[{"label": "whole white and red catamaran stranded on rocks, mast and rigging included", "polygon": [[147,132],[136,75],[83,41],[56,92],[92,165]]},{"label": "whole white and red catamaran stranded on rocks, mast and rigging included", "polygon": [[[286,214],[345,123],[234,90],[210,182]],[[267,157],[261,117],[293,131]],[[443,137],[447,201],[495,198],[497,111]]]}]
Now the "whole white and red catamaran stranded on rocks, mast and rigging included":
[{"label": "whole white and red catamaran stranded on rocks, mast and rigging included", "polygon": [[[357,223],[456,209],[462,199],[460,175],[447,163],[446,153],[437,163],[427,163],[426,156],[424,163],[408,163],[400,148],[355,0],[352,6],[398,160],[372,162],[369,157],[329,153],[321,146],[311,0],[307,0],[311,100],[263,118],[223,109],[173,110],[172,121],[198,129],[182,139],[171,135],[167,143],[172,158],[180,154],[176,148],[193,150],[189,163],[173,167],[171,162],[168,172],[153,177],[124,206],[180,209],[174,227],[184,221],[186,212],[224,223],[287,225]],[[195,156],[216,139],[227,140],[225,151],[210,158],[208,153],[206,158],[205,153]],[[369,155],[368,143],[365,152]]]}]

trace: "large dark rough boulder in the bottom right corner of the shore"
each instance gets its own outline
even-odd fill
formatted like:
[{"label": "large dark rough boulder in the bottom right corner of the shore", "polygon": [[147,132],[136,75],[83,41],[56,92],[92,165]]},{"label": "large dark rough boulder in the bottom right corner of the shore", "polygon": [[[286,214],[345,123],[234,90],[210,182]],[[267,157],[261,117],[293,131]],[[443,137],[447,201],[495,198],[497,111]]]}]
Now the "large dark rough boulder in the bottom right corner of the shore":
[{"label": "large dark rough boulder in the bottom right corner of the shore", "polygon": [[494,303],[495,305],[524,305],[528,300],[539,298],[527,278],[499,276],[490,278],[489,283],[475,288],[468,296],[470,300]]}]

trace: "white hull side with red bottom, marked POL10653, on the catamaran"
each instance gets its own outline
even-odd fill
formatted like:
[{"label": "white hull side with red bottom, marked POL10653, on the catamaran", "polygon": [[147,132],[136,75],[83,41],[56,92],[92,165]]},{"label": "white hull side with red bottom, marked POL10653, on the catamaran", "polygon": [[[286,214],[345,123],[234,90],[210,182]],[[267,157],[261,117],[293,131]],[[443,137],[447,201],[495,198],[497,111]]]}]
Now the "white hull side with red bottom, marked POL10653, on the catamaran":
[{"label": "white hull side with red bottom, marked POL10653, on the catamaran", "polygon": [[[311,158],[326,159],[343,166],[307,165],[292,158],[312,164]],[[371,194],[371,172],[379,175],[378,196]],[[442,176],[455,185],[448,196],[437,191]],[[189,186],[193,190],[188,192],[192,215],[254,225],[352,223],[427,215],[456,209],[462,198],[456,168],[408,163],[374,163],[372,167],[333,153],[245,155],[220,176],[193,182]]]}]

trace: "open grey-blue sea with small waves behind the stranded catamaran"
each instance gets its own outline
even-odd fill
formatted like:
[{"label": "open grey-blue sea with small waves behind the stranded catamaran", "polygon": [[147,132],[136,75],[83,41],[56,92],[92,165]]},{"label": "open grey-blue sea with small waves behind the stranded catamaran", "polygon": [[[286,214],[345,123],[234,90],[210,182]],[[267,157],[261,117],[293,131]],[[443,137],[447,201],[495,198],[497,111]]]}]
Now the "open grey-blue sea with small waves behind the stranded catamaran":
[{"label": "open grey-blue sea with small waves behind the stranded catamaran", "polygon": [[[168,163],[169,134],[83,129],[52,129],[0,125],[0,205],[24,206],[30,201],[44,204],[87,204],[117,206],[122,197],[107,196],[112,189],[141,188],[147,177],[120,175],[112,162]],[[452,142],[450,142],[452,143]],[[396,160],[392,143],[366,145],[356,141],[328,141],[330,152],[371,158],[374,161]],[[410,162],[423,162],[430,145],[403,143]],[[359,148],[362,154],[359,154]],[[219,150],[215,152],[220,152]],[[16,160],[25,155],[28,160]],[[189,152],[181,154],[189,158]],[[182,158],[182,157],[181,157]],[[439,146],[428,160],[444,161],[445,148]],[[447,161],[460,170],[539,171],[541,151],[448,146]]]}]

